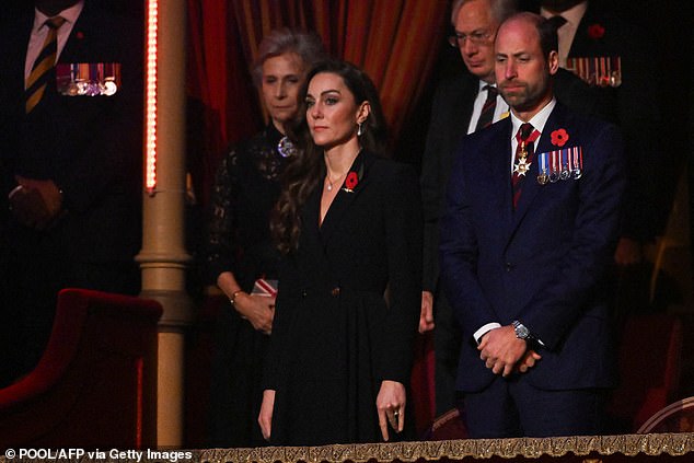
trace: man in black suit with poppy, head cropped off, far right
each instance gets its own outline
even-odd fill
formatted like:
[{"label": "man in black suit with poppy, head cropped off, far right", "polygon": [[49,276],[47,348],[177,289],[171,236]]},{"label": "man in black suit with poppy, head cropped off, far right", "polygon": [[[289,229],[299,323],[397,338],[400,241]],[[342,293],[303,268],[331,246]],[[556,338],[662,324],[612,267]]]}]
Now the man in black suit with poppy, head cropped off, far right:
[{"label": "man in black suit with poppy, head cropped off, far right", "polygon": [[[593,92],[614,105],[626,153],[627,190],[624,221],[615,251],[621,268],[617,317],[648,304],[648,280],[638,267],[644,246],[662,234],[670,210],[664,200],[662,175],[675,157],[663,150],[659,102],[658,56],[650,33],[610,11],[605,2],[541,0],[540,14],[562,18],[558,28],[559,66],[570,58],[620,59],[621,79],[612,85],[593,84]],[[650,278],[650,271],[647,277]]]}]

